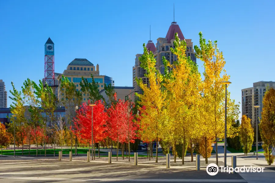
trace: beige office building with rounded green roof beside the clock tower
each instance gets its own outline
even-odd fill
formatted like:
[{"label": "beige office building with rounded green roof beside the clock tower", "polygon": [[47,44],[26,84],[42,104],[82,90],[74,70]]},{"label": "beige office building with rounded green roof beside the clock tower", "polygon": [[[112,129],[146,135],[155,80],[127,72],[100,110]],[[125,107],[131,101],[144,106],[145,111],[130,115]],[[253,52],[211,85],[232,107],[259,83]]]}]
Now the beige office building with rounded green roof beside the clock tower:
[{"label": "beige office building with rounded green roof beside the clock tower", "polygon": [[[71,82],[74,82],[76,85],[77,91],[81,91],[81,87],[79,83],[82,81],[82,77],[87,79],[88,82],[92,82],[91,74],[94,76],[94,81],[98,83],[98,90],[101,91],[104,89],[105,84],[105,78],[107,78],[105,75],[99,75],[99,65],[97,64],[96,67],[93,63],[91,63],[87,59],[74,59],[69,63],[67,66],[67,69],[63,71],[62,74],[59,74],[57,77],[58,80],[58,99],[61,100],[64,98],[64,90],[61,89],[61,79],[62,75],[64,77],[68,77],[68,80]],[[107,78],[107,83],[113,83],[113,80],[111,80],[111,77]],[[83,101],[87,102],[87,96],[83,94]]]}]

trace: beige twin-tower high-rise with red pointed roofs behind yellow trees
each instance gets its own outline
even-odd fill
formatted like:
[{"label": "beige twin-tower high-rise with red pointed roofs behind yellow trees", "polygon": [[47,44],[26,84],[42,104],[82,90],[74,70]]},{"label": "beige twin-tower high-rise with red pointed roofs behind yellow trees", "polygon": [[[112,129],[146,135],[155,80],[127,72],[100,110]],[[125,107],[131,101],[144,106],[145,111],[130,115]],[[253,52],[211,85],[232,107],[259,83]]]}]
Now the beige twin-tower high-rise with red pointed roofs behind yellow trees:
[{"label": "beige twin-tower high-rise with red pointed roofs behind yellow trees", "polygon": [[[173,64],[174,61],[177,60],[177,56],[170,51],[170,48],[174,48],[175,33],[178,33],[180,40],[186,41],[186,56],[190,56],[190,59],[196,63],[196,56],[193,50],[192,39],[185,39],[178,23],[172,22],[167,31],[166,37],[158,38],[156,46],[154,45],[153,41],[148,41],[146,45],[147,50],[154,53],[154,57],[156,59],[156,68],[157,70],[160,70],[161,74],[164,74],[164,65],[162,60],[163,56],[165,56],[170,64]],[[141,55],[142,54],[136,55],[135,66],[133,66],[133,87],[135,88],[135,91],[139,91],[139,93],[142,91],[135,81],[136,78],[142,78],[143,83],[149,86],[149,79],[144,76],[144,74],[146,74],[146,70],[140,67],[140,61],[138,58]]]}]

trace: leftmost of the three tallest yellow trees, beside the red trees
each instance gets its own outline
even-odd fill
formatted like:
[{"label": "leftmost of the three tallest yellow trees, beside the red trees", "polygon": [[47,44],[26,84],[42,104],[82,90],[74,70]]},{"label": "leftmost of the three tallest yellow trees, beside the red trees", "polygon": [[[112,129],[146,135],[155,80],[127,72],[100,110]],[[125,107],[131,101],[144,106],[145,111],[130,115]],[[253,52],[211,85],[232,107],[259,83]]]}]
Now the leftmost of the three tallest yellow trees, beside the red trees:
[{"label": "leftmost of the three tallest yellow trees, beside the red trees", "polygon": [[[144,54],[139,58],[141,67],[146,69],[145,77],[149,78],[149,86],[142,82],[142,79],[137,79],[137,83],[143,90],[143,94],[137,94],[140,99],[140,105],[144,106],[141,113],[141,134],[146,133],[148,139],[158,141],[161,137],[161,121],[164,99],[166,91],[161,90],[161,82],[163,77],[159,70],[156,70],[156,60],[152,52],[148,53],[145,44],[143,44]],[[158,145],[156,146],[156,163],[158,162]]]}]

